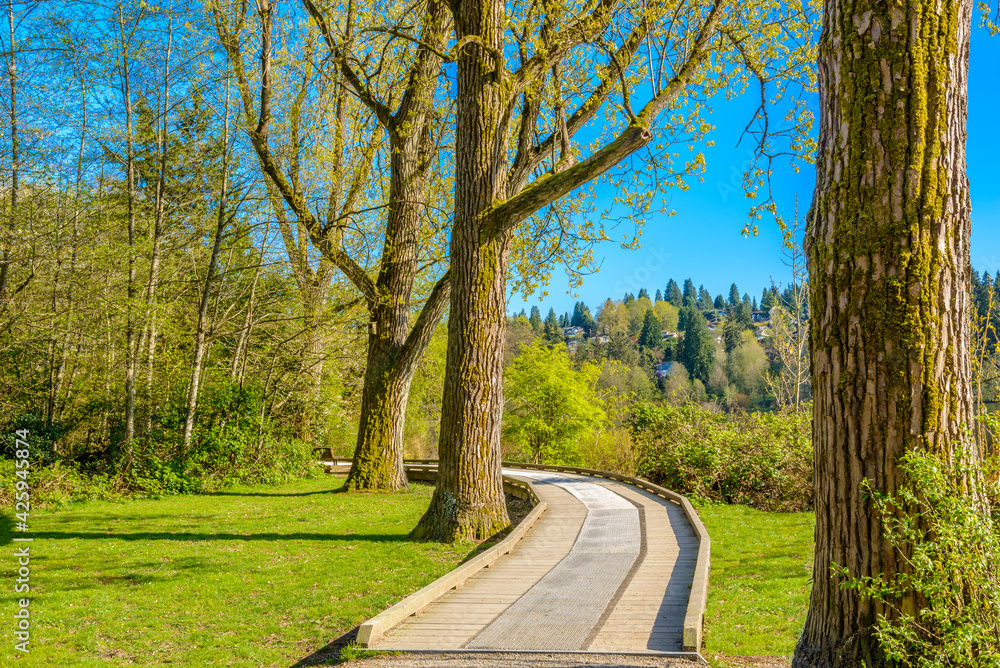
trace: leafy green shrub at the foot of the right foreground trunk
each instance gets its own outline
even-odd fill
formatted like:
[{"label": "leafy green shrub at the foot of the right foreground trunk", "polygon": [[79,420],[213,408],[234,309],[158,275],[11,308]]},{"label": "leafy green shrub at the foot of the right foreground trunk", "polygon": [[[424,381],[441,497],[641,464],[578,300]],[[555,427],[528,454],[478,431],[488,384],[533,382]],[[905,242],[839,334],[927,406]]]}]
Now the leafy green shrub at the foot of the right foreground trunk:
[{"label": "leafy green shrub at the foot of the right foreground trunk", "polygon": [[[988,502],[998,491],[993,463],[967,453],[952,462],[909,453],[896,495],[866,485],[886,540],[910,572],[845,586],[892,611],[879,615],[875,634],[898,665],[1000,667],[1000,515]],[[835,570],[850,578],[847,569]]]}]

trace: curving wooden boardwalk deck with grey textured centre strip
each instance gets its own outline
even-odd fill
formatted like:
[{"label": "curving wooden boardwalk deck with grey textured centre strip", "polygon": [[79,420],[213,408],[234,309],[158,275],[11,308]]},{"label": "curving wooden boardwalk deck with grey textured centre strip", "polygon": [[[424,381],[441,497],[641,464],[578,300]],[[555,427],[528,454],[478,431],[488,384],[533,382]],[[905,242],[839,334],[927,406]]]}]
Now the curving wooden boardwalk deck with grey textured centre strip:
[{"label": "curving wooden boardwalk deck with grey textured centre strip", "polygon": [[374,648],[680,652],[699,545],[681,506],[607,479],[505,474],[530,480],[546,512]]}]

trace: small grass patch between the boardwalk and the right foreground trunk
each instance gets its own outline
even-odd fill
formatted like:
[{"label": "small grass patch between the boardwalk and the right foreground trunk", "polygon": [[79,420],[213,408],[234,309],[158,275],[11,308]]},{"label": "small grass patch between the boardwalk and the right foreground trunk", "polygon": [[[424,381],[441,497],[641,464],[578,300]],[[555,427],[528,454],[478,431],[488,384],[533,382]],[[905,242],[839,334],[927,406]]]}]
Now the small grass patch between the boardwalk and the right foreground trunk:
[{"label": "small grass patch between the boardwalk and the right foreground trunk", "polygon": [[736,505],[698,514],[712,538],[704,653],[790,657],[809,607],[813,514]]}]

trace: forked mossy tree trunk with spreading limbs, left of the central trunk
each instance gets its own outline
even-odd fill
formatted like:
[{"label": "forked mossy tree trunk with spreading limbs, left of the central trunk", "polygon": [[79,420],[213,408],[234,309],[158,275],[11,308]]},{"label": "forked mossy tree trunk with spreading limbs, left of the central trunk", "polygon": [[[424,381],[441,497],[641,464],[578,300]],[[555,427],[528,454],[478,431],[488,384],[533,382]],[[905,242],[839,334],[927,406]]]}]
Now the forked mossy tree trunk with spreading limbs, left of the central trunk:
[{"label": "forked mossy tree trunk with spreading limbs, left of the central trunk", "polygon": [[[334,37],[326,14],[315,3],[303,0],[303,5],[327,41],[331,57],[340,62],[338,76],[346,79],[346,83],[342,81],[340,84],[341,90],[346,93],[349,84],[355,87],[357,92],[357,86],[361,84],[356,80],[352,83],[347,77],[350,68],[344,58],[345,53],[349,51],[351,41],[351,25],[355,13],[353,2],[347,3],[344,41]],[[369,310],[370,367],[365,378],[362,424],[358,430],[354,465],[347,479],[348,489],[391,490],[405,486],[402,442],[397,438],[402,435],[405,395],[409,390],[409,379],[412,377],[414,366],[430,342],[431,335],[447,306],[450,288],[450,280],[446,274],[435,285],[427,303],[420,311],[417,322],[410,330],[412,290],[414,279],[420,269],[418,263],[421,261],[420,235],[424,222],[427,182],[433,164],[432,153],[436,150],[432,136],[433,129],[438,125],[433,115],[436,99],[434,92],[441,65],[440,52],[445,48],[444,35],[448,18],[447,6],[443,2],[429,2],[427,12],[430,20],[424,26],[422,33],[424,46],[417,50],[413,67],[406,78],[408,84],[403,94],[396,98],[399,100],[396,113],[393,114],[389,107],[374,100],[370,91],[361,96],[362,101],[375,112],[379,124],[388,133],[390,142],[391,176],[385,244],[379,276],[373,281],[368,276],[367,270],[341,246],[342,225],[339,220],[357,205],[357,193],[362,190],[357,187],[361,185],[360,182],[336,184],[331,193],[326,223],[321,224],[320,219],[306,206],[303,193],[294,184],[296,181],[294,175],[282,171],[268,144],[272,114],[271,3],[264,1],[257,5],[257,13],[261,20],[259,115],[254,109],[249,78],[236,37],[242,29],[244,17],[240,16],[237,19],[236,29],[233,31],[222,12],[218,8],[213,8],[216,30],[234,65],[240,85],[248,125],[252,127],[254,119],[257,119],[256,127],[249,131],[249,135],[262,170],[288,208],[295,213],[298,223],[308,232],[312,243],[358,288]],[[342,100],[339,100],[338,105],[341,103]],[[296,114],[295,111],[291,114],[293,127],[297,123]],[[343,147],[346,125],[340,110],[335,130],[339,133],[335,137],[335,146]],[[374,148],[374,144],[372,147]],[[336,177],[346,178],[341,169],[342,159],[339,157],[341,155],[342,148],[335,152],[332,172]],[[367,173],[359,172],[359,174]],[[280,211],[281,205],[275,208],[276,211]],[[279,218],[280,215],[279,213]],[[372,363],[374,366],[371,366]],[[383,396],[385,392],[389,392],[389,395]]]}]

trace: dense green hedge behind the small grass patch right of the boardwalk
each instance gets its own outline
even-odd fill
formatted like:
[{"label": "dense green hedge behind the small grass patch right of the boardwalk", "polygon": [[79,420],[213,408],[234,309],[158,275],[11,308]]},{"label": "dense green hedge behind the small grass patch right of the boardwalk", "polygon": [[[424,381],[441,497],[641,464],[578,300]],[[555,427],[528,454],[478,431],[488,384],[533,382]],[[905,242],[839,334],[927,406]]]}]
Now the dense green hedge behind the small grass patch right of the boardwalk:
[{"label": "dense green hedge behind the small grass patch right of the boardwalk", "polygon": [[713,412],[639,403],[628,421],[639,475],[706,501],[761,510],[812,506],[812,407],[797,413]]}]

